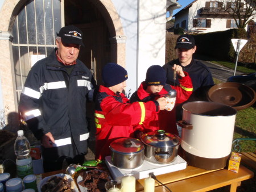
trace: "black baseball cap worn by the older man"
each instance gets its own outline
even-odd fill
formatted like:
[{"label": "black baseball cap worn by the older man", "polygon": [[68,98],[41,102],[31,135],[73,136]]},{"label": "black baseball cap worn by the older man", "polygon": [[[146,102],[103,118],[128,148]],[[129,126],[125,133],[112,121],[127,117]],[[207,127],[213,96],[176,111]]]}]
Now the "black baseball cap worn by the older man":
[{"label": "black baseball cap worn by the older man", "polygon": [[82,31],[75,26],[65,26],[61,28],[59,34],[57,33],[57,36],[61,37],[63,43],[84,46],[84,43],[82,43]]}]

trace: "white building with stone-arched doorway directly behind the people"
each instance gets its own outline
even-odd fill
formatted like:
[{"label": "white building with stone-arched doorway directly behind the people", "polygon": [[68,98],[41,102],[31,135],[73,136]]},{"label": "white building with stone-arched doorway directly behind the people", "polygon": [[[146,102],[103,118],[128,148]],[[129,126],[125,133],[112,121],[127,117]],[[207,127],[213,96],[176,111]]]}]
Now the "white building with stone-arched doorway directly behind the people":
[{"label": "white building with stone-arched doorway directly behind the people", "polygon": [[176,7],[176,0],[1,0],[0,110],[18,112],[32,65],[53,51],[56,32],[69,24],[84,34],[79,59],[98,84],[106,62],[127,69],[129,97],[149,66],[164,64],[166,12]]}]

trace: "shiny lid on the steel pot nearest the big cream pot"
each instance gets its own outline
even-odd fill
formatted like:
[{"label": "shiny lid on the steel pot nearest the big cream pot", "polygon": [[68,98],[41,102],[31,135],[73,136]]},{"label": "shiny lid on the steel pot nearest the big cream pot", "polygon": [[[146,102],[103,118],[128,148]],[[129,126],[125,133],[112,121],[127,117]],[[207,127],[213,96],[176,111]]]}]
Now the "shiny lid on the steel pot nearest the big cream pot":
[{"label": "shiny lid on the steel pot nearest the big cream pot", "polygon": [[175,147],[180,144],[180,137],[165,132],[164,130],[152,131],[141,136],[144,144],[153,147]]}]

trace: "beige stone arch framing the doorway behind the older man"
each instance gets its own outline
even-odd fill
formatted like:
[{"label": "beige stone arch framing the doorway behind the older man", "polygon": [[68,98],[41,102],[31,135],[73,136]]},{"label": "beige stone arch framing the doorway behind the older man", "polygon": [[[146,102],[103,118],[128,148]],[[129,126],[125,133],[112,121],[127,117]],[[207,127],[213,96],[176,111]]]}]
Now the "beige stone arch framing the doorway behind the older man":
[{"label": "beige stone arch framing the doorway behind the older man", "polygon": [[[92,1],[92,0],[89,0]],[[2,49],[0,77],[2,87],[3,106],[8,106],[10,111],[18,111],[17,95],[15,92],[13,53],[11,49],[12,35],[10,33],[13,22],[20,8],[26,0],[6,0],[0,11],[0,46]],[[125,66],[125,41],[121,20],[111,0],[92,1],[102,11],[110,31],[112,60]]]}]

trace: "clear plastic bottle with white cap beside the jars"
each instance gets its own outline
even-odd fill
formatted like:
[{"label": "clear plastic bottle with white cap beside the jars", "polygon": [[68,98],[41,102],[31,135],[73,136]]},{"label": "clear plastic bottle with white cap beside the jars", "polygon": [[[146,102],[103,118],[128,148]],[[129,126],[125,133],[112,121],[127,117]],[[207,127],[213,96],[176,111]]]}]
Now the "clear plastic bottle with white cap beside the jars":
[{"label": "clear plastic bottle with white cap beside the jars", "polygon": [[24,136],[23,130],[18,131],[18,137],[14,143],[14,151],[16,158],[17,175],[24,178],[29,174],[33,174],[32,158],[30,157],[30,142]]}]

